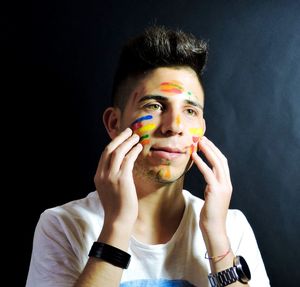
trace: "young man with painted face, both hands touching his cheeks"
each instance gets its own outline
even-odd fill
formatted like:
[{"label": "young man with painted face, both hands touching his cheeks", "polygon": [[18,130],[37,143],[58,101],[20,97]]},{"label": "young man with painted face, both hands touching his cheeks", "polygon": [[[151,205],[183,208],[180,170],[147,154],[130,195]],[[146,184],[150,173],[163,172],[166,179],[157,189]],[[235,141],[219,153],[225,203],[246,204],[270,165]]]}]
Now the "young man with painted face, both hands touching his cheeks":
[{"label": "young man with painted face, both hands touching his cheeks", "polygon": [[[204,137],[206,59],[205,42],[163,27],[124,46],[97,191],[41,215],[28,287],[269,286],[249,223],[228,210],[227,159]],[[183,190],[193,163],[204,201]]]}]

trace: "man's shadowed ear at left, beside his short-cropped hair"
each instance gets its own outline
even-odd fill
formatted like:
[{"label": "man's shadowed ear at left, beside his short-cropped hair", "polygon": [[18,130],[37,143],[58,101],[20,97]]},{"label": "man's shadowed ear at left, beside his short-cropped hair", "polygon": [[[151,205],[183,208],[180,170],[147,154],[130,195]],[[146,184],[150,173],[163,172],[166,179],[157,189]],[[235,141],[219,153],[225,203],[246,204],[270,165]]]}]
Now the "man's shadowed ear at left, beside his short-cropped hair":
[{"label": "man's shadowed ear at left, beside his short-cropped hair", "polygon": [[102,117],[104,126],[111,139],[120,133],[121,111],[119,108],[107,108]]}]

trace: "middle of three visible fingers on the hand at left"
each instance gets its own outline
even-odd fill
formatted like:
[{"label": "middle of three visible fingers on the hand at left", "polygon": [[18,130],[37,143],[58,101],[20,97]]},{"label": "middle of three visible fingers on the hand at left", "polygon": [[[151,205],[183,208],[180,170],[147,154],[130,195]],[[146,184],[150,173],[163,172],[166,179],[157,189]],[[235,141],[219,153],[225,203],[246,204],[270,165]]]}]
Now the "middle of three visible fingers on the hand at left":
[{"label": "middle of three visible fingers on the hand at left", "polygon": [[109,172],[112,175],[116,175],[120,171],[126,154],[139,142],[139,139],[137,134],[133,134],[112,152],[109,166]]}]

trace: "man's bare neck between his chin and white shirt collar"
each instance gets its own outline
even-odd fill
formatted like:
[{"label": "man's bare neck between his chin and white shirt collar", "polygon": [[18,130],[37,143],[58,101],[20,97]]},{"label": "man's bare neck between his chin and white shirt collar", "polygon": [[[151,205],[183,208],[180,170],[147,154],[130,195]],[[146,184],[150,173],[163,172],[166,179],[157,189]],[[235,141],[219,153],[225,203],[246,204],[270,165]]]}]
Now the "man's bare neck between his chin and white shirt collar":
[{"label": "man's bare neck between his chin and white shirt collar", "polygon": [[136,187],[139,213],[133,235],[148,244],[166,243],[174,235],[184,213],[183,177],[169,184],[139,185],[136,182]]}]

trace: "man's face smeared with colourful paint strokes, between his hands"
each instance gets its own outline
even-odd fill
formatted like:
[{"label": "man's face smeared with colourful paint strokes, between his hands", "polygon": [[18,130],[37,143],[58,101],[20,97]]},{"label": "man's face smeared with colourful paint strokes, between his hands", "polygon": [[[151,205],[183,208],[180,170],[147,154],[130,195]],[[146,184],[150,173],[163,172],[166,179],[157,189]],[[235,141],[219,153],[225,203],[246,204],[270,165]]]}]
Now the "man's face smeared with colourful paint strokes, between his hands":
[{"label": "man's face smeared with colourful paint strokes, between his hands", "polygon": [[203,104],[202,87],[191,69],[158,68],[139,82],[121,123],[144,146],[135,175],[173,182],[186,172],[204,133]]}]

